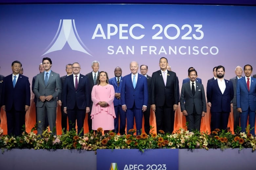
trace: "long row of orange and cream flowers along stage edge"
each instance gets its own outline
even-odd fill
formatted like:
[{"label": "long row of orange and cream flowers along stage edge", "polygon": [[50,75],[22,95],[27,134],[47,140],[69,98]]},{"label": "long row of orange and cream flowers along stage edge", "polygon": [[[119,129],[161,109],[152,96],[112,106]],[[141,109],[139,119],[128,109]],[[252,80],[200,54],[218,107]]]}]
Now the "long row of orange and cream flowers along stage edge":
[{"label": "long row of orange and cream flowers along stage edge", "polygon": [[117,135],[109,132],[102,135],[103,129],[97,129],[97,133],[88,132],[84,135],[76,133],[76,130],[62,131],[62,135],[53,136],[48,129],[43,134],[36,135],[31,132],[24,131],[21,136],[13,137],[3,135],[3,129],[0,128],[0,148],[2,150],[12,148],[33,148],[33,149],[139,149],[144,152],[145,149],[157,148],[252,148],[256,149],[256,138],[249,133],[249,126],[246,132],[241,132],[238,128],[234,134],[230,129],[215,129],[210,134],[207,132],[193,131],[189,132],[186,128],[180,128],[176,132],[170,134],[160,130],[159,133],[151,132],[149,135],[141,133],[133,135],[136,129],[130,129],[127,135]]}]

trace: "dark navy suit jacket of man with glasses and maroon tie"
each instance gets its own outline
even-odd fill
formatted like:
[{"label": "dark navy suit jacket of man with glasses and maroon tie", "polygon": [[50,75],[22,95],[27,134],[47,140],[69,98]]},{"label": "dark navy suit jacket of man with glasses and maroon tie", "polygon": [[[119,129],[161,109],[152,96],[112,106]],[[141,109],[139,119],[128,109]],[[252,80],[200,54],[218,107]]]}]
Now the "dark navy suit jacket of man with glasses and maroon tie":
[{"label": "dark navy suit jacket of man with glasses and maroon tie", "polygon": [[63,86],[63,107],[72,110],[75,104],[78,109],[85,110],[91,106],[90,84],[87,76],[79,76],[78,87],[75,90],[74,74],[67,76]]}]

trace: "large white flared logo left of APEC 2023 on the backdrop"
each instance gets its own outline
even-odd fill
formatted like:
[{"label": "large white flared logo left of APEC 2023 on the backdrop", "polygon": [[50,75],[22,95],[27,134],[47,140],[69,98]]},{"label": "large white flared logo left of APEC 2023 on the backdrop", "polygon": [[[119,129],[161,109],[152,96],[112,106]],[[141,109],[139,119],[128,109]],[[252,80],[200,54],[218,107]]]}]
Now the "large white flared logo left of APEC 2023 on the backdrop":
[{"label": "large white flared logo left of APEC 2023 on the backdrop", "polygon": [[76,31],[74,19],[60,20],[59,27],[53,38],[53,41],[48,45],[48,47],[45,50],[46,52],[43,55],[46,55],[53,51],[62,50],[66,42],[69,44],[72,50],[80,51],[82,53],[92,56],[86,50],[87,47],[84,45]]}]

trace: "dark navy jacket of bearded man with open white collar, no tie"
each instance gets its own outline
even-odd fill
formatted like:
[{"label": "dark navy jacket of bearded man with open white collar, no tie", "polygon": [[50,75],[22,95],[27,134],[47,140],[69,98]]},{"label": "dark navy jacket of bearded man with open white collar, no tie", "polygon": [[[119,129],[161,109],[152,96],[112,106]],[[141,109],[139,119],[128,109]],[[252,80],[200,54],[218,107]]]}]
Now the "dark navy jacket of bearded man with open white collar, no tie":
[{"label": "dark navy jacket of bearded man with open white collar, no tie", "polygon": [[233,83],[224,79],[226,89],[224,93],[218,85],[218,79],[210,81],[206,90],[207,100],[211,102],[211,112],[230,112],[230,102],[234,97]]}]

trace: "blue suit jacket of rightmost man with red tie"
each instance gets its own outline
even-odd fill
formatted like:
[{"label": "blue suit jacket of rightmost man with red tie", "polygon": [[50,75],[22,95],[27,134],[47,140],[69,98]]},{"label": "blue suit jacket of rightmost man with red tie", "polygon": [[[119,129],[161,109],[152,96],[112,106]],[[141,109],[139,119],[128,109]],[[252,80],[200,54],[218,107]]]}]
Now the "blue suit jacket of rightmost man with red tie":
[{"label": "blue suit jacket of rightmost man with red tie", "polygon": [[237,80],[236,86],[237,108],[242,111],[250,109],[256,111],[256,78],[251,77],[250,91],[248,91],[245,77]]}]

